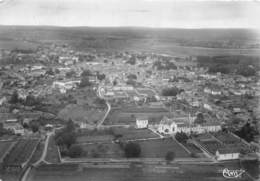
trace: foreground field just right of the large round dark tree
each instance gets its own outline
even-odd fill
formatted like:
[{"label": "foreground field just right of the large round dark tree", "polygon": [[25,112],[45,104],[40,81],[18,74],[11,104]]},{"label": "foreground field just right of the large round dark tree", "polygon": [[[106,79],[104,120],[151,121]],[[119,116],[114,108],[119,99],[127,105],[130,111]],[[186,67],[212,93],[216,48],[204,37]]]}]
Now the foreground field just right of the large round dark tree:
[{"label": "foreground field just right of the large round dark tree", "polygon": [[164,158],[168,151],[175,152],[178,158],[189,157],[189,154],[172,138],[136,141],[141,146],[141,157]]}]

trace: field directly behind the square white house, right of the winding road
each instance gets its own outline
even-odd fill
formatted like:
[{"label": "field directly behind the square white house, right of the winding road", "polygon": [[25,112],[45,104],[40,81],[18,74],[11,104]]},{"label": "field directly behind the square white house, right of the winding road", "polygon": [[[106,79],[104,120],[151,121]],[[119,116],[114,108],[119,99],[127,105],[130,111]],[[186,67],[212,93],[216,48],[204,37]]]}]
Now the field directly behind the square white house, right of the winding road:
[{"label": "field directly behind the square white house, right of the winding road", "polygon": [[112,108],[105,125],[133,125],[139,116],[147,116],[149,123],[159,123],[163,116],[170,113],[163,108],[131,107],[115,109]]}]

